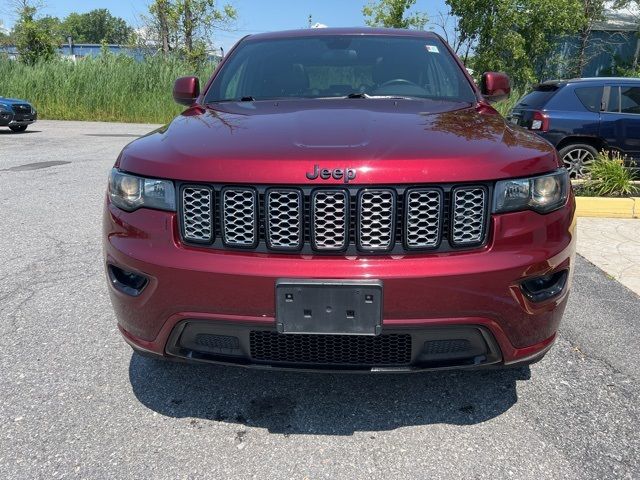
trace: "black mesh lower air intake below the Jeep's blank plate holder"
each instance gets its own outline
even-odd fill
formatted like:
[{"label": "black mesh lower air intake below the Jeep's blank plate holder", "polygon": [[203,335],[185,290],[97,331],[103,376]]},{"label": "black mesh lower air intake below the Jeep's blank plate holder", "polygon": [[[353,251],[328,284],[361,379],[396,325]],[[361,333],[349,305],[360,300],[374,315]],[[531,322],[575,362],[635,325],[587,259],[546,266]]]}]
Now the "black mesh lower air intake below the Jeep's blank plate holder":
[{"label": "black mesh lower air intake below the Jeep's blank plate holder", "polygon": [[286,335],[254,330],[251,357],[257,361],[314,365],[409,365],[411,335]]}]

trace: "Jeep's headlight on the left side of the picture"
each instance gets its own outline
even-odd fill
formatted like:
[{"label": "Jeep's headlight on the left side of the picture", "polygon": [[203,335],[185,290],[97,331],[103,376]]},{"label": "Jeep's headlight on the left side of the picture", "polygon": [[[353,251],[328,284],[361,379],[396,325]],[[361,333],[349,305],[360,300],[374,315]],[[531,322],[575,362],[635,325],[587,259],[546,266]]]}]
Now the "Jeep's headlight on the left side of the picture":
[{"label": "Jeep's headlight on the left side of the picture", "polygon": [[173,182],[142,178],[116,168],[109,175],[109,198],[116,207],[127,212],[143,207],[176,211]]}]

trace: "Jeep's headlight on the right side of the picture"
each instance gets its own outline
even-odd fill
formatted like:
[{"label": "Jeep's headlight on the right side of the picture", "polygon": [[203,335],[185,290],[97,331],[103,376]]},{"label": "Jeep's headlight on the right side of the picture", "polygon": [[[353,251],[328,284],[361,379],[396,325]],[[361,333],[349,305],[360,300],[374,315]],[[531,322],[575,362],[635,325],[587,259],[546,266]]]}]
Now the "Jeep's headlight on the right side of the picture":
[{"label": "Jeep's headlight on the right side of the picture", "polygon": [[568,194],[569,174],[564,169],[539,177],[501,180],[496,183],[493,211],[547,213],[562,207]]}]

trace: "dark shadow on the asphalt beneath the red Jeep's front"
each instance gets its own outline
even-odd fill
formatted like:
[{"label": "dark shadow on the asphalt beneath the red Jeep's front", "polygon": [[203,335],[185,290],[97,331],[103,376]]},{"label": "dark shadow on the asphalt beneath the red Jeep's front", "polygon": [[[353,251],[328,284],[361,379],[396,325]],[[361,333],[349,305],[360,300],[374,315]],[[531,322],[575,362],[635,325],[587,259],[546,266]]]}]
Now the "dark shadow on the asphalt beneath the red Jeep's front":
[{"label": "dark shadow on the asphalt beneath the red Jeep's front", "polygon": [[129,378],[162,415],[266,428],[280,434],[351,435],[412,425],[471,425],[518,401],[529,367],[414,374],[325,374],[164,362],[133,354]]}]

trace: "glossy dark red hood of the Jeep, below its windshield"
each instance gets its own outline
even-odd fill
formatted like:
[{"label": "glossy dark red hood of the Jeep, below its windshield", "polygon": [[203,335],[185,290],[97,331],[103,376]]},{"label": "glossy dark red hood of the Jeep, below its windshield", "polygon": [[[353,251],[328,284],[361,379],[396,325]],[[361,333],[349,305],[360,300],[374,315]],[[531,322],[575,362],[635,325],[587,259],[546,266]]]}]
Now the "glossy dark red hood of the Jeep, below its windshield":
[{"label": "glossy dark red hood of the Jeep, below its windshield", "polygon": [[356,169],[356,184],[493,180],[559,166],[550,144],[489,107],[392,99],[193,107],[118,161],[141,175],[230,183],[310,183],[316,165]]}]

